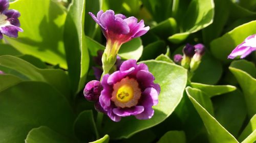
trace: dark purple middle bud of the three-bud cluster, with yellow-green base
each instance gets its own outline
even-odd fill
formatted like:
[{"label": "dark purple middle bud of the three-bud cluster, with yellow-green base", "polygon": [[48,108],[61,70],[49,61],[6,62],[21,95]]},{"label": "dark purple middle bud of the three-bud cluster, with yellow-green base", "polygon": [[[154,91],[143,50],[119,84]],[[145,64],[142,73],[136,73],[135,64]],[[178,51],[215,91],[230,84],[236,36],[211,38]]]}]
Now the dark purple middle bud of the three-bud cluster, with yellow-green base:
[{"label": "dark purple middle bud of the three-bud cluster, with yellow-green base", "polygon": [[181,61],[181,66],[188,69],[191,58],[195,54],[195,47],[193,45],[186,44],[182,52],[183,52],[183,59]]}]

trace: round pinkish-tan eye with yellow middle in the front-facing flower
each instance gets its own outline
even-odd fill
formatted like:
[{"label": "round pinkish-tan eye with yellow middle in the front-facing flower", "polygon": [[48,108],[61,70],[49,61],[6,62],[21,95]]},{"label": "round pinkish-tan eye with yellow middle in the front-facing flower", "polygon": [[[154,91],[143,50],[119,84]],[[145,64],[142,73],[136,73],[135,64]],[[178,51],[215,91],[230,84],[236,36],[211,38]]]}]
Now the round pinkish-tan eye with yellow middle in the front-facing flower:
[{"label": "round pinkish-tan eye with yellow middle in the front-facing flower", "polygon": [[125,108],[136,106],[140,96],[141,90],[137,80],[125,77],[114,84],[111,100],[116,106]]}]

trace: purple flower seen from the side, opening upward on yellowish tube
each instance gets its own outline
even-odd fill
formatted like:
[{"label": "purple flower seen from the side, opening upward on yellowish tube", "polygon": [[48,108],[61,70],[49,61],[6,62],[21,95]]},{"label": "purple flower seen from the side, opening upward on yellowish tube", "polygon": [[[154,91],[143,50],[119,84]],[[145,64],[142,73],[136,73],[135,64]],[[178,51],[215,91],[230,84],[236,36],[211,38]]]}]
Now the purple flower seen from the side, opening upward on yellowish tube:
[{"label": "purple flower seen from the side, opening upward on yellowish tube", "polygon": [[89,12],[92,18],[100,25],[101,30],[106,38],[106,55],[117,55],[120,46],[132,40],[133,38],[144,35],[149,26],[144,27],[144,21],[135,17],[126,18],[122,14],[116,14],[113,10],[102,10],[97,13],[97,17]]}]

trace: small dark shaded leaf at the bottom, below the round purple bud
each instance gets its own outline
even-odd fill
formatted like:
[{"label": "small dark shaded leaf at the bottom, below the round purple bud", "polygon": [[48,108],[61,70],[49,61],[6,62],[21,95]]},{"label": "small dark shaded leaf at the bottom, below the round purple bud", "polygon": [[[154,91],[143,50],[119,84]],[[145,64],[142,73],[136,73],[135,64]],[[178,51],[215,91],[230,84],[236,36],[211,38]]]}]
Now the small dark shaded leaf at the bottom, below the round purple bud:
[{"label": "small dark shaded leaf at the bottom, below the round purple bud", "polygon": [[89,142],[98,138],[92,110],[82,111],[78,115],[74,123],[74,131],[77,138],[82,142]]}]

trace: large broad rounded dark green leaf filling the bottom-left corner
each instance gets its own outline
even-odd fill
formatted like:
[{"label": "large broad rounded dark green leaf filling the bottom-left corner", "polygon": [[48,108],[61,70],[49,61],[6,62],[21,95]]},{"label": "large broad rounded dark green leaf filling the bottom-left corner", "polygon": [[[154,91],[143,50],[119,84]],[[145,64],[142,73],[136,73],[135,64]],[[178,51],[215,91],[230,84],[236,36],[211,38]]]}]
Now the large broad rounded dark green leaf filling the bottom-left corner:
[{"label": "large broad rounded dark green leaf filling the bottom-left corner", "polygon": [[0,94],[0,142],[24,142],[28,132],[38,126],[73,136],[72,108],[49,84],[20,82]]}]

